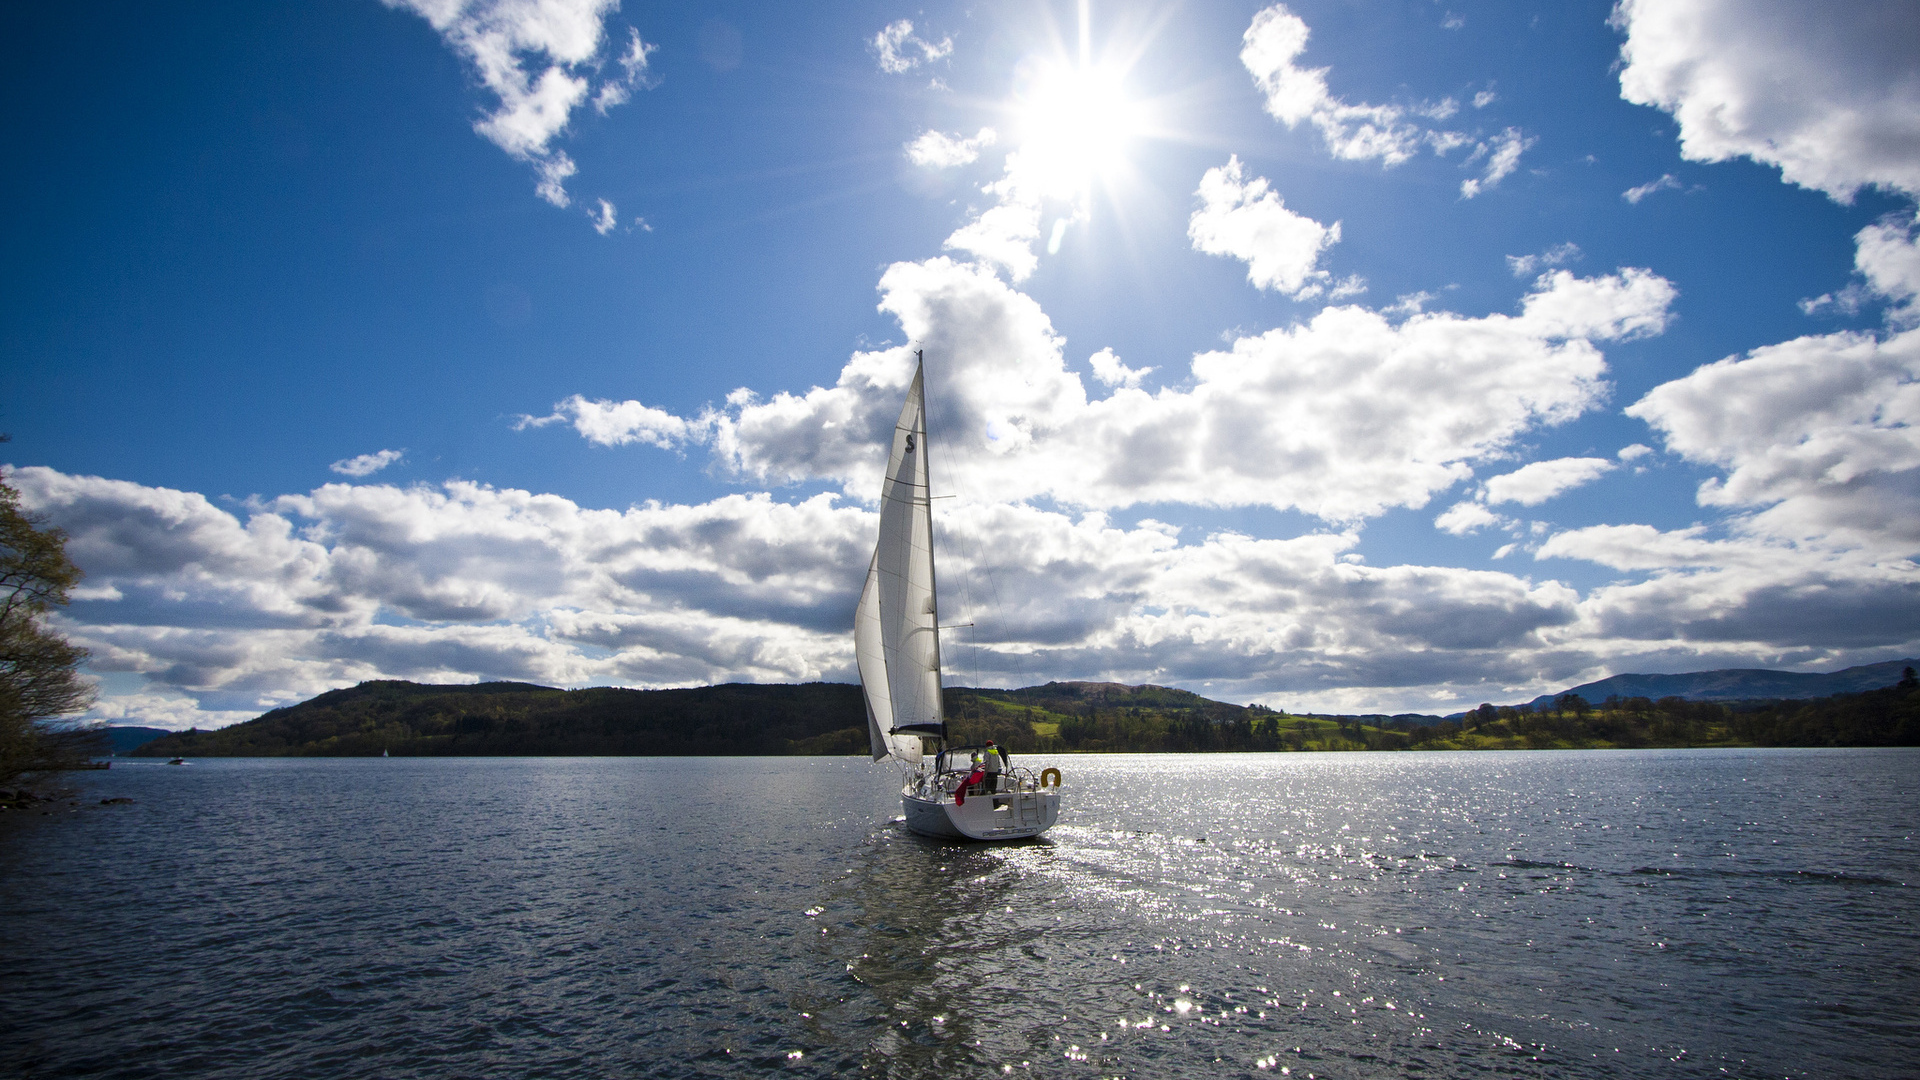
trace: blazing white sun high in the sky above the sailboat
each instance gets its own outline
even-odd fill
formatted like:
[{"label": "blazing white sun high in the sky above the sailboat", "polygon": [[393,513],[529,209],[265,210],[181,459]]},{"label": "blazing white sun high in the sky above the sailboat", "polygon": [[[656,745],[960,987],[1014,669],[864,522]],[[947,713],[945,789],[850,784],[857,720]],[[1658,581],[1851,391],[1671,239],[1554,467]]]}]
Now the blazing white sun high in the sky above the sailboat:
[{"label": "blazing white sun high in the sky above the sailboat", "polygon": [[1096,63],[1039,65],[1016,96],[1020,169],[1044,196],[1081,198],[1127,165],[1146,115],[1121,71]]}]

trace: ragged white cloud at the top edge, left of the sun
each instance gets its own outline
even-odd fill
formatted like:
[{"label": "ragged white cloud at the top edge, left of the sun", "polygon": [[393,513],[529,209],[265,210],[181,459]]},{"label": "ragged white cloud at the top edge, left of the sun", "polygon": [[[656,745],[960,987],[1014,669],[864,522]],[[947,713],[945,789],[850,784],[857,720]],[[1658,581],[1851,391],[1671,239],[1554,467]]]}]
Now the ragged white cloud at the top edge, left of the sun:
[{"label": "ragged white cloud at the top edge, left of the sun", "polygon": [[[570,206],[566,179],[578,167],[553,146],[572,111],[589,98],[605,38],[603,19],[618,0],[382,0],[428,21],[467,60],[497,106],[474,131],[534,167],[536,194]],[[607,111],[634,86],[649,86],[647,56],[655,46],[637,31],[616,58],[620,75],[601,83],[593,106]]]}]

